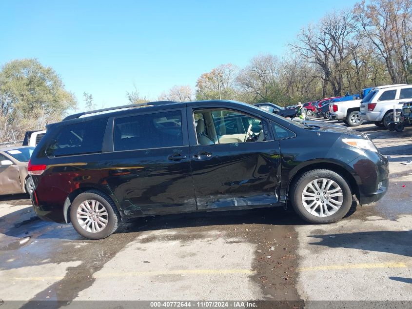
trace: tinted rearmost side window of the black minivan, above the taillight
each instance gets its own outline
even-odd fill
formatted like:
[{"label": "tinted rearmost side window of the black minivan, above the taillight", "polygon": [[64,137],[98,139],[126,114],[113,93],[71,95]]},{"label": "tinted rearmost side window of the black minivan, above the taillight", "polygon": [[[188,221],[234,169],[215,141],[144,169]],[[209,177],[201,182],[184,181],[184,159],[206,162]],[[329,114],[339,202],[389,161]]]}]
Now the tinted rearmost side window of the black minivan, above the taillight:
[{"label": "tinted rearmost side window of the black minivan, above the taillight", "polygon": [[47,156],[101,152],[106,124],[107,118],[62,126],[47,146]]}]

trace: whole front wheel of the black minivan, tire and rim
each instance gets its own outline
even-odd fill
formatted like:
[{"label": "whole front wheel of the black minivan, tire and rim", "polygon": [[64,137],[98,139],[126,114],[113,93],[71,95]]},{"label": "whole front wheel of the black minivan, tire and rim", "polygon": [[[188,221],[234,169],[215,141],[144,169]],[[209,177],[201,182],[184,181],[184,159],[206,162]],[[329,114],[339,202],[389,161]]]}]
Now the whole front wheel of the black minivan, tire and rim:
[{"label": "whole front wheel of the black minivan, tire and rim", "polygon": [[303,173],[292,185],[291,199],[296,213],[314,224],[342,219],[352,205],[347,181],[328,169]]}]

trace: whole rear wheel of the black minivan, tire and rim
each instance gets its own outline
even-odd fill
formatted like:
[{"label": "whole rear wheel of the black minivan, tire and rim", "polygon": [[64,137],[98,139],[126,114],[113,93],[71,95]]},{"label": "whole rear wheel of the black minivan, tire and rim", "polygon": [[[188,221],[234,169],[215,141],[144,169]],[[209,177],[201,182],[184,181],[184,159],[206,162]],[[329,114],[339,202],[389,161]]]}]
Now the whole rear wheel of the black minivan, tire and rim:
[{"label": "whole rear wheel of the black minivan, tire and rim", "polygon": [[76,231],[88,239],[102,239],[118,228],[120,214],[112,199],[98,190],[80,193],[70,206]]}]

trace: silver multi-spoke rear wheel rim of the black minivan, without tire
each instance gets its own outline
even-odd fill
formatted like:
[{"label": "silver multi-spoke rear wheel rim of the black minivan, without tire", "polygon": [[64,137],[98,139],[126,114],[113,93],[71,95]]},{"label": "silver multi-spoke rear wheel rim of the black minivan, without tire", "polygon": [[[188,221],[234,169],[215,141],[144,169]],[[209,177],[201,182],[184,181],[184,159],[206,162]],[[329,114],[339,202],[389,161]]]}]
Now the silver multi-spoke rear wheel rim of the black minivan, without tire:
[{"label": "silver multi-spoke rear wheel rim of the black minivan, without tire", "polygon": [[106,207],[96,200],[86,200],[77,208],[77,221],[81,228],[90,233],[101,232],[109,222]]}]

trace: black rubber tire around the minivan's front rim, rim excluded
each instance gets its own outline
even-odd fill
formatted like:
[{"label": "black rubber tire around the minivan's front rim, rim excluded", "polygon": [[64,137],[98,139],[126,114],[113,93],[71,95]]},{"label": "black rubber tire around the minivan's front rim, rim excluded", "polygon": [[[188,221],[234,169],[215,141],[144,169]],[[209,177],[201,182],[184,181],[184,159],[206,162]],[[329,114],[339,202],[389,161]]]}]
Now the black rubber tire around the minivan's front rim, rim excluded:
[{"label": "black rubber tire around the minivan's front rim, rim excluded", "polygon": [[[343,201],[340,208],[331,214],[330,216],[318,217],[305,209],[302,202],[302,192],[306,185],[310,182],[319,179],[326,178],[334,181],[342,190]],[[352,192],[348,185],[348,182],[342,178],[339,174],[328,169],[314,169],[307,171],[300,175],[296,181],[291,186],[290,198],[292,201],[292,206],[296,213],[305,221],[313,224],[325,224],[336,222],[342,219],[349,211],[352,205]]]}]

